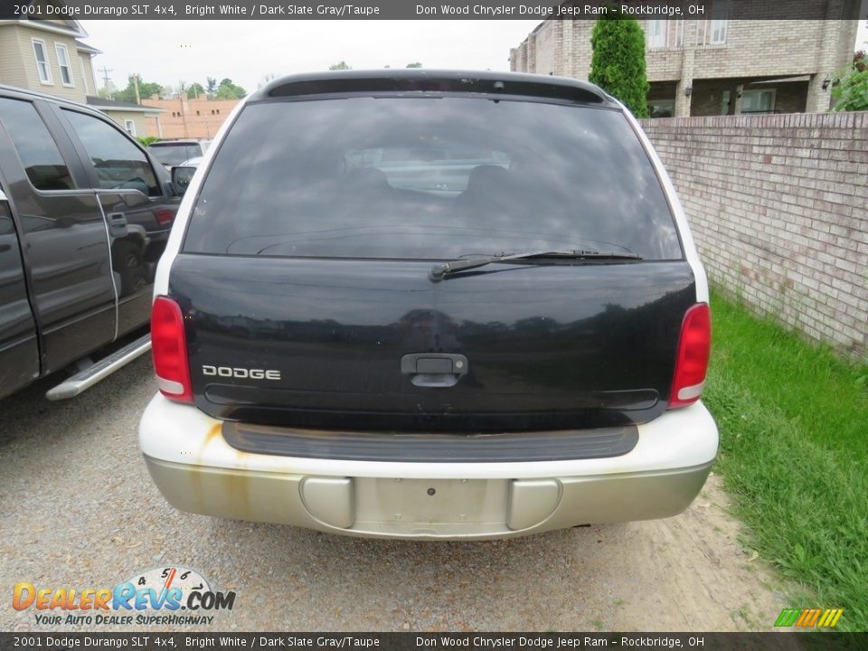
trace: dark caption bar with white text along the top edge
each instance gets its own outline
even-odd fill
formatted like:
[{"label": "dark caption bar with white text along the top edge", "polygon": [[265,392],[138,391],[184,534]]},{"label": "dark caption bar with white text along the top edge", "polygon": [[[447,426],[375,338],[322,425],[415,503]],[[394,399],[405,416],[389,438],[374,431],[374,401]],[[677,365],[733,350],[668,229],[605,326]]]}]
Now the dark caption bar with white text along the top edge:
[{"label": "dark caption bar with white text along the top edge", "polygon": [[857,20],[868,0],[3,0],[0,20]]}]

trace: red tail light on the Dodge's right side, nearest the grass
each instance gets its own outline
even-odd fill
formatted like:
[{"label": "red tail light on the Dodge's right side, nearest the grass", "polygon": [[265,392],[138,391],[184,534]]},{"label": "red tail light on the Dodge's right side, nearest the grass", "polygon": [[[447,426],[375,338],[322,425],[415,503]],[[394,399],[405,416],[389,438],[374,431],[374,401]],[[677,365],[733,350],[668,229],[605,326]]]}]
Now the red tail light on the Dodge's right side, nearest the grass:
[{"label": "red tail light on the Dodge's right side, nearest the grass", "polygon": [[712,314],[705,303],[697,303],[684,314],[669,409],[686,407],[698,401],[705,386],[708,355],[712,348]]}]

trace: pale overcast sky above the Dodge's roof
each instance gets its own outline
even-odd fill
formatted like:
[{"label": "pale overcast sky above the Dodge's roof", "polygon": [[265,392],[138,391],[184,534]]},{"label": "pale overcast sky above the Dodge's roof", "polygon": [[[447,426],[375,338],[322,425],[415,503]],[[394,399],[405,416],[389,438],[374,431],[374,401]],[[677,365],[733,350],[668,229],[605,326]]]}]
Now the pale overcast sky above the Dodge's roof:
[{"label": "pale overcast sky above the Dodge's roof", "polygon": [[[118,88],[138,72],[146,81],[186,85],[225,77],[248,91],[267,74],[323,71],[337,61],[355,69],[509,70],[509,49],[539,21],[82,21],[94,59]],[[860,25],[856,45],[868,40]]]}]

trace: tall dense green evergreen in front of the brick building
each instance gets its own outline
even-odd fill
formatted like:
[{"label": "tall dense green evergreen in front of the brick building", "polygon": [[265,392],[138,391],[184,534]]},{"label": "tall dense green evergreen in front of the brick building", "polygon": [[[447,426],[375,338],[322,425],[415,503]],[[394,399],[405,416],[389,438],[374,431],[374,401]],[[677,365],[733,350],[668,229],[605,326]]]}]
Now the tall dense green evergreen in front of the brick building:
[{"label": "tall dense green evergreen in front of the brick building", "polygon": [[590,44],[590,82],[624,102],[637,118],[647,118],[649,87],[642,27],[609,5],[609,13],[594,25]]}]

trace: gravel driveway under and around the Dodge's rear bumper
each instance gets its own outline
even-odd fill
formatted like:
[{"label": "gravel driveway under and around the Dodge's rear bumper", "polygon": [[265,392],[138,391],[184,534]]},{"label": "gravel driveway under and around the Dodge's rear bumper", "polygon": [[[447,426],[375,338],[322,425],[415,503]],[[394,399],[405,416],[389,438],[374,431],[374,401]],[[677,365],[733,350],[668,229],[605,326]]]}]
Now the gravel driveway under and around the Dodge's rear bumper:
[{"label": "gravel driveway under and around the Dodge's rear bumper", "polygon": [[111,587],[164,565],[235,590],[213,630],[763,630],[782,608],[717,476],[675,518],[501,542],[218,521],[178,513],[147,475],[147,357],[73,401],[44,400],[50,386],[0,401],[0,630],[88,629],[12,609],[17,581]]}]

